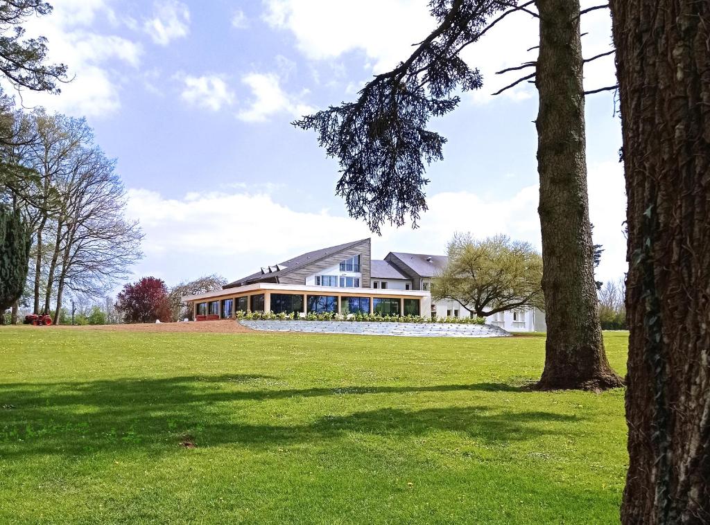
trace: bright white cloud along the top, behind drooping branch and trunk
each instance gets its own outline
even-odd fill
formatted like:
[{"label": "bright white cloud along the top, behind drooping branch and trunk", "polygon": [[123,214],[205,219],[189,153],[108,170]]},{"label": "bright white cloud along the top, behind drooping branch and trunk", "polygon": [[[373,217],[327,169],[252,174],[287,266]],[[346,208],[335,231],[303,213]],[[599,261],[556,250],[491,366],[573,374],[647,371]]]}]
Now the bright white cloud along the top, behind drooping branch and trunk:
[{"label": "bright white cloud along the top, behind drooping branch and trunk", "polygon": [[[412,52],[432,31],[435,20],[426,0],[265,0],[265,20],[273,27],[291,31],[297,48],[310,60],[334,60],[347,52],[364,52],[368,72],[390,70]],[[595,4],[582,0],[582,7]],[[373,16],[372,13],[377,13]],[[346,24],[332,23],[346,20]],[[610,49],[611,21],[608,11],[593,11],[582,18],[584,54],[594,56]],[[506,67],[537,59],[539,43],[537,18],[514,13],[498,23],[480,42],[469,45],[462,57],[484,75],[484,87],[467,98],[477,103],[495,100],[491,93],[522,77],[530,70],[496,75]],[[585,68],[585,87],[593,89],[613,85],[613,58],[591,62]],[[357,84],[357,91],[362,83]],[[351,92],[353,89],[350,90]],[[502,95],[505,99],[524,100],[535,96],[535,87],[523,82]]]}]

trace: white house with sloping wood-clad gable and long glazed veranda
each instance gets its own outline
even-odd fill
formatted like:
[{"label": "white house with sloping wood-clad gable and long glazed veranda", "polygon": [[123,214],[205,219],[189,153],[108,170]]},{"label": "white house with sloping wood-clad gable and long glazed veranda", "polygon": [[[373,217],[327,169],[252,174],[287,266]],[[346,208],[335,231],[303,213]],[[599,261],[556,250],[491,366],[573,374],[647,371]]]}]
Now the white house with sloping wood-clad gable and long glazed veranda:
[{"label": "white house with sloping wood-clad gable and long glazed veranda", "polygon": [[[183,300],[192,304],[195,319],[229,319],[236,311],[467,317],[458,303],[432,304],[430,283],[446,262],[442,255],[398,252],[373,260],[366,238],[263,266],[221,290]],[[506,316],[491,322],[518,331],[537,326],[535,312],[509,314],[510,322]]]}]

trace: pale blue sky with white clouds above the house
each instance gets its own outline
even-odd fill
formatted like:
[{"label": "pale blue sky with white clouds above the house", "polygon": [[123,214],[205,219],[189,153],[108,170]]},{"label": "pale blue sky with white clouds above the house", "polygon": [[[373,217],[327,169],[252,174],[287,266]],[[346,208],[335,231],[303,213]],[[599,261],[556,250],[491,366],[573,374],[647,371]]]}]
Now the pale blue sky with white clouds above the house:
[{"label": "pale blue sky with white clouds above the house", "polygon": [[[351,101],[373,74],[408,57],[434,28],[427,0],[54,0],[28,23],[68,65],[60,95],[23,93],[27,107],[85,116],[128,192],[145,233],[133,277],[170,286],[228,280],[300,253],[372,237],[389,251],[444,254],[454,232],[505,233],[540,248],[537,94],[505,67],[535,60],[537,19],[508,16],[464,60],[484,87],[431,126],[448,138],[427,170],[419,227],[372,235],[334,195],[337,160],[290,123]],[[595,2],[582,1],[582,6]],[[611,49],[607,11],[586,14],[584,56]],[[590,62],[586,89],[616,84],[613,58]],[[587,97],[589,201],[597,279],[626,272],[621,126],[613,93]]]}]

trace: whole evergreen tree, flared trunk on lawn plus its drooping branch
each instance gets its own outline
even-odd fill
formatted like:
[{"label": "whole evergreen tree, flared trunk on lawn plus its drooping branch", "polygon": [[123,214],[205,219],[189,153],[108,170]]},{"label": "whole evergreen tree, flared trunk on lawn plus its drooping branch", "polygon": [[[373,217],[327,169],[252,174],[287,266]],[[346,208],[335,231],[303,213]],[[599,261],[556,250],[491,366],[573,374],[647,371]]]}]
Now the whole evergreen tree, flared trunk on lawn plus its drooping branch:
[{"label": "whole evergreen tree, flared trunk on lawn plus its drooping branch", "polygon": [[[531,11],[537,5],[539,13]],[[511,8],[511,6],[513,6]],[[353,103],[305,116],[327,155],[337,157],[337,194],[351,216],[379,232],[383,223],[416,224],[426,211],[425,167],[442,159],[446,138],[427,129],[432,116],[453,111],[456,89],[479,89],[479,70],[461,59],[510,13],[540,19],[540,58],[519,79],[535,79],[542,223],[542,288],[548,326],[545,371],[539,387],[603,389],[622,385],[606,360],[597,311],[594,245],[586,191],[583,60],[579,0],[431,0],[438,27],[408,59],[378,74]],[[506,89],[506,88],[504,88]],[[501,90],[503,91],[503,90]]]}]

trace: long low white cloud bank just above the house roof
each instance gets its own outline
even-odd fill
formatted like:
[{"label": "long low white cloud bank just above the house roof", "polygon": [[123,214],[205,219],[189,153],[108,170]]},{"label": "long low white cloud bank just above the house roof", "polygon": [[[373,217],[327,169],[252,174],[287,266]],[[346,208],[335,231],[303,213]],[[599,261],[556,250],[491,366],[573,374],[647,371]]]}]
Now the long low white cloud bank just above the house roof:
[{"label": "long low white cloud bank just above the house roof", "polygon": [[[626,271],[621,169],[611,163],[591,167],[589,194],[594,241],[603,244],[599,280]],[[537,186],[512,196],[446,192],[430,196],[420,228],[383,228],[372,236],[373,258],[388,251],[444,253],[454,231],[478,238],[506,233],[540,248]],[[225,188],[221,192],[187,194],[166,199],[145,189],[129,191],[129,214],[146,232],[143,248],[151,268],[162,268],[169,280],[212,272],[236,279],[307,250],[371,236],[364,223],[334,214],[295,211],[275,201],[268,187]],[[209,254],[208,257],[205,254]]]}]

